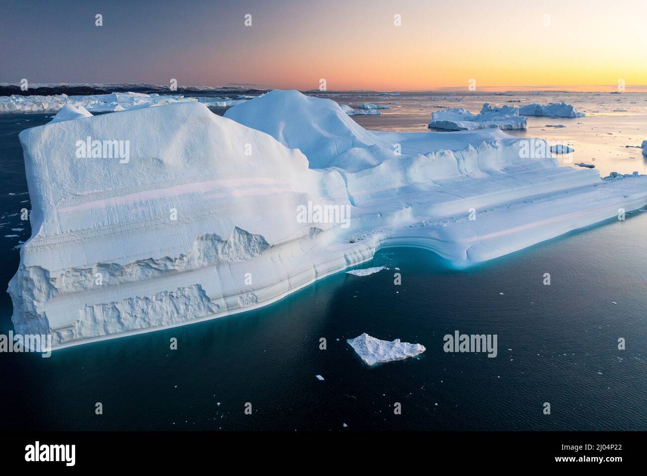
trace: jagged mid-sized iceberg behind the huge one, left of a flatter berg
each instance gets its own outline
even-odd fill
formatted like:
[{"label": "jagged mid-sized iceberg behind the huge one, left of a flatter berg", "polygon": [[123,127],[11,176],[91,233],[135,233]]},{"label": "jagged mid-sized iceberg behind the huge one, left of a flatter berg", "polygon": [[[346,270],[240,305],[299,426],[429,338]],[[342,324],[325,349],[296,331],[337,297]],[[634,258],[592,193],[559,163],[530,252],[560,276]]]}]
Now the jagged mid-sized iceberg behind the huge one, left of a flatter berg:
[{"label": "jagged mid-sized iceberg behind the huge one, left of a flatter berg", "polygon": [[472,131],[477,129],[525,129],[528,119],[519,116],[519,109],[513,106],[490,106],[483,104],[481,113],[472,114],[467,109],[443,109],[432,113],[431,129],[448,131]]}]

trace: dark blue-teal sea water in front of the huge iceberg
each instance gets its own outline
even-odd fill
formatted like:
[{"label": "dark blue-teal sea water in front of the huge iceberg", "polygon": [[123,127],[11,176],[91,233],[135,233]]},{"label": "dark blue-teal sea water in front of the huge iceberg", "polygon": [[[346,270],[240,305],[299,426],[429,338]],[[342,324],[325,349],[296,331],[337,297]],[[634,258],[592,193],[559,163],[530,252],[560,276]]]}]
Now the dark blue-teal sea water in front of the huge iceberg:
[{"label": "dark blue-teal sea water in front of the huge iceberg", "polygon": [[[3,289],[30,234],[17,133],[51,115],[0,115]],[[0,429],[646,430],[646,232],[635,212],[463,270],[384,249],[362,267],[388,271],[338,273],[261,310],[48,359],[0,354]],[[11,313],[0,293],[1,334]],[[445,353],[455,330],[497,334],[498,356]],[[362,332],[427,350],[369,368],[345,343]]]}]

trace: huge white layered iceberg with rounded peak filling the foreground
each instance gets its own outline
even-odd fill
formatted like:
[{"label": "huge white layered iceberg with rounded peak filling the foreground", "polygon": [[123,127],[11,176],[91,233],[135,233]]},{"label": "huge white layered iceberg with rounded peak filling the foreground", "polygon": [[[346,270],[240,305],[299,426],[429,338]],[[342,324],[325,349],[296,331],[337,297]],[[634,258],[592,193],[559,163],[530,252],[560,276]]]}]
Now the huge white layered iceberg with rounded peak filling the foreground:
[{"label": "huge white layered iceberg with rounded peak filling the foreground", "polygon": [[[86,137],[128,141],[129,161],[79,158]],[[193,101],[19,139],[32,237],[12,319],[55,348],[258,308],[384,246],[469,266],[647,203],[646,176],[603,180],[547,146],[528,157],[527,139],[498,129],[367,131],[296,91],[225,117]],[[331,212],[301,220],[309,203]]]}]

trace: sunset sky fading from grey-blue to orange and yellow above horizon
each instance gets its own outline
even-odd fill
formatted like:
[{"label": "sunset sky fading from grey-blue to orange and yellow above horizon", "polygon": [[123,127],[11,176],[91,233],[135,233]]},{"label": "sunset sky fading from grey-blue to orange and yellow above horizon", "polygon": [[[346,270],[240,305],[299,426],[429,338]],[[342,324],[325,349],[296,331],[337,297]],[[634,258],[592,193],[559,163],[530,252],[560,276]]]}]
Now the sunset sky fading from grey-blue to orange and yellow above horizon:
[{"label": "sunset sky fading from grey-blue to orange and yellow above horizon", "polygon": [[630,91],[646,19],[647,0],[5,0],[0,82]]}]

